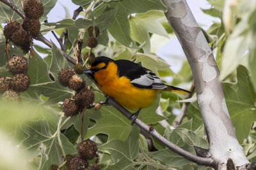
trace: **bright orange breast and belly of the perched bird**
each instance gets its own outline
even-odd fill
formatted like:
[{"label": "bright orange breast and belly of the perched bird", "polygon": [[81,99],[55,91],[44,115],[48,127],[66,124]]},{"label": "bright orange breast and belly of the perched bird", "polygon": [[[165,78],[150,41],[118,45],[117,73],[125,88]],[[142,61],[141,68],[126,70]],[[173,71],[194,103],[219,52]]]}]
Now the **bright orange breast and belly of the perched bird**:
[{"label": "bright orange breast and belly of the perched bird", "polygon": [[104,93],[128,109],[148,107],[154,102],[158,92],[154,89],[136,88],[127,77],[118,77],[117,66],[113,62],[106,69],[96,72],[94,77]]}]

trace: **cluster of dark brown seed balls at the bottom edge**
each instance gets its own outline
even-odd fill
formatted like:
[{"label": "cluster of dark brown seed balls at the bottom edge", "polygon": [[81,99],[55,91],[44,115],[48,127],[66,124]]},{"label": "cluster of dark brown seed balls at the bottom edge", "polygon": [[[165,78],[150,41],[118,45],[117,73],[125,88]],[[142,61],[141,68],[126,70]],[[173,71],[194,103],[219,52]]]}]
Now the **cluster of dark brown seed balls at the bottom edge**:
[{"label": "cluster of dark brown seed balls at the bottom edge", "polygon": [[88,160],[91,160],[97,155],[97,144],[95,144],[93,141],[90,141],[90,139],[87,139],[79,144],[78,147],[78,154],[77,155],[66,155],[66,166],[70,170],[76,170],[76,169],[95,169],[100,170],[100,166],[97,164],[92,164],[89,166]]}]

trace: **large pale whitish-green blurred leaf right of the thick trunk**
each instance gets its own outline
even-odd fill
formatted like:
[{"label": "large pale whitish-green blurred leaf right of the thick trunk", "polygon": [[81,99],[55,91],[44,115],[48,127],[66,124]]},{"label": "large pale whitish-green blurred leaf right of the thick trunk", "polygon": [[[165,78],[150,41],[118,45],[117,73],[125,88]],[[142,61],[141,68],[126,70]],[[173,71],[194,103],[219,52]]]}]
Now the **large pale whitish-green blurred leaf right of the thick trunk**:
[{"label": "large pale whitish-green blurred leaf right of the thick trunk", "polygon": [[255,14],[252,9],[242,13],[240,22],[228,37],[221,61],[221,80],[234,72],[237,66],[243,64],[244,61],[248,64],[248,50],[250,52],[256,47],[253,43],[255,42],[255,29],[253,28],[256,23]]}]

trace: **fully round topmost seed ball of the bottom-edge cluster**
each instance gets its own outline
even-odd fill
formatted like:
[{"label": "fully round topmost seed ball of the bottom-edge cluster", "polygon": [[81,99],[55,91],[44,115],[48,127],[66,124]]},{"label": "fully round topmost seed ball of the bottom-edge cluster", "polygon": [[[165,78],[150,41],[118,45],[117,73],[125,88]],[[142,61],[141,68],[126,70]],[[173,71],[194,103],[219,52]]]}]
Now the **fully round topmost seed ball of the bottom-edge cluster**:
[{"label": "fully round topmost seed ball of the bottom-edge cluster", "polygon": [[97,154],[98,147],[93,141],[87,139],[79,144],[78,153],[82,158],[90,160]]}]

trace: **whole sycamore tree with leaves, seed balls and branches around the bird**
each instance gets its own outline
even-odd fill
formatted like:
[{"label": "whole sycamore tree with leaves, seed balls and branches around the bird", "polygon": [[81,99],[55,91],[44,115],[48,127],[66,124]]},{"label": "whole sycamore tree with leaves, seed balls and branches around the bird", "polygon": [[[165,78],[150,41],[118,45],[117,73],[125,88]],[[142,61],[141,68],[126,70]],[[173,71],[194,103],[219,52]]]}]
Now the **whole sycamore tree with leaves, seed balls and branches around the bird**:
[{"label": "whole sycamore tree with leaves, seed balls and branches around the bird", "polygon": [[[256,1],[208,2],[220,22],[204,30],[185,0],[72,0],[54,23],[56,0],[0,0],[0,169],[255,169]],[[179,39],[178,73],[154,36]],[[133,111],[83,74],[95,56],[193,93],[162,93],[131,125]]]}]

